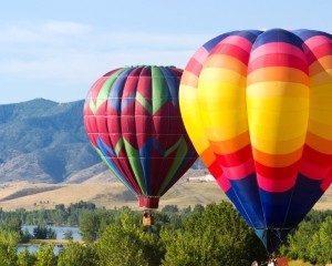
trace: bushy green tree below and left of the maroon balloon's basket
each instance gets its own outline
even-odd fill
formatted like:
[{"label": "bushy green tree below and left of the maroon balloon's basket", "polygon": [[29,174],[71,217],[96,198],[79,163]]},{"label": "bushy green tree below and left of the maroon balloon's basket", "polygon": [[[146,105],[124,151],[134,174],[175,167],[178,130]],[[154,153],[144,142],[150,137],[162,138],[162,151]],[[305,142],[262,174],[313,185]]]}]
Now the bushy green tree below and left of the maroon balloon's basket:
[{"label": "bushy green tree below and left of the maroon balloon's basket", "polygon": [[103,266],[155,266],[164,255],[158,236],[145,232],[139,218],[129,212],[105,229],[97,247]]}]

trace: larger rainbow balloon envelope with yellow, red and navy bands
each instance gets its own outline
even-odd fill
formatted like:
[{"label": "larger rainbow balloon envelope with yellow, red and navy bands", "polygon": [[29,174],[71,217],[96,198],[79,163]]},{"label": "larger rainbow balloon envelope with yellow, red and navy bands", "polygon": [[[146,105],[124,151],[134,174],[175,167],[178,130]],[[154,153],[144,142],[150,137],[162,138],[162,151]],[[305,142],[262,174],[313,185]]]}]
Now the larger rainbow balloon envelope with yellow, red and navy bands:
[{"label": "larger rainbow balloon envelope with yellow, red and navy bands", "polygon": [[200,158],[272,254],[331,184],[331,35],[218,35],[187,63],[179,102]]}]

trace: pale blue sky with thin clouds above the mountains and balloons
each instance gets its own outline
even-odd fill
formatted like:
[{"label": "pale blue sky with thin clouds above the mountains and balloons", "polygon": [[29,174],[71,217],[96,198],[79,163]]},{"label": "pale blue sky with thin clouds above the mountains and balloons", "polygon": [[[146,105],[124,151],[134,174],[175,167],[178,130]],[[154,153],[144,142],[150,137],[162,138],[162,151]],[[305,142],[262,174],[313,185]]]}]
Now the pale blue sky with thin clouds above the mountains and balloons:
[{"label": "pale blue sky with thin clouds above the mountains and balloons", "polygon": [[84,99],[112,69],[184,68],[231,30],[332,32],[325,0],[12,0],[0,9],[0,104]]}]

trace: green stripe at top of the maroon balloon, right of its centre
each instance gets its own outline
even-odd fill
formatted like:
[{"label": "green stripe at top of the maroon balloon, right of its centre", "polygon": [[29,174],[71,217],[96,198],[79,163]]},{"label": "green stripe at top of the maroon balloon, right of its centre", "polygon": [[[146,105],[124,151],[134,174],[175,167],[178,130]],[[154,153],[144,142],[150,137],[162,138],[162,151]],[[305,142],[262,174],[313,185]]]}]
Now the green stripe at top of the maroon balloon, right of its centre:
[{"label": "green stripe at top of the maroon balloon, right of its centre", "polygon": [[165,76],[163,72],[157,66],[152,66],[152,78],[153,78],[153,113],[155,114],[168,100],[168,93],[165,88],[167,88],[167,83],[165,81]]}]

